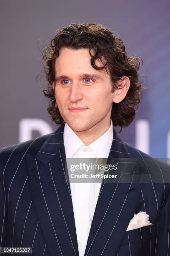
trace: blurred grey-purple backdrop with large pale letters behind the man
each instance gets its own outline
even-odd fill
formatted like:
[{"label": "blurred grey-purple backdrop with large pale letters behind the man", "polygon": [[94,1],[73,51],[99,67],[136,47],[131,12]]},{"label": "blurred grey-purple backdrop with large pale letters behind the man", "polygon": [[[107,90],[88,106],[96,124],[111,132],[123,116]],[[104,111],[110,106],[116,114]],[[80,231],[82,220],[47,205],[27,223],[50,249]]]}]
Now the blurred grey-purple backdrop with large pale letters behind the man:
[{"label": "blurred grey-purple backdrop with large pale letters behind the man", "polygon": [[170,158],[169,0],[0,0],[0,148],[57,129],[47,114],[40,49],[72,22],[95,22],[141,56],[145,86],[135,121],[120,137],[153,157]]}]

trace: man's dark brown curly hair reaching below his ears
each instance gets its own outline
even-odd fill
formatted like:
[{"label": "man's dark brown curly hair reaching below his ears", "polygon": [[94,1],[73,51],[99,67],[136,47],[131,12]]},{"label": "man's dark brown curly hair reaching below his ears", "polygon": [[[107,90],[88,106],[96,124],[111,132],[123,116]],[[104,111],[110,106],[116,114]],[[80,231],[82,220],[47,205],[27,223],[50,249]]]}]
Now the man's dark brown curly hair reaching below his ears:
[{"label": "man's dark brown curly hair reaching below his ears", "polygon": [[[126,97],[119,103],[113,102],[111,119],[113,126],[126,127],[133,122],[135,112],[140,103],[142,83],[138,81],[140,64],[143,60],[139,56],[128,57],[119,36],[97,23],[72,23],[70,26],[61,28],[53,36],[50,45],[42,51],[44,71],[47,78],[47,90],[43,90],[45,97],[50,99],[47,111],[56,124],[62,124],[55,100],[55,90],[52,83],[55,81],[55,59],[60,54],[60,49],[89,49],[91,65],[94,69],[105,69],[110,75],[112,91],[118,87],[122,77],[130,79],[130,88]],[[92,54],[93,51],[93,54]],[[95,61],[100,59],[102,67],[97,67]]]}]

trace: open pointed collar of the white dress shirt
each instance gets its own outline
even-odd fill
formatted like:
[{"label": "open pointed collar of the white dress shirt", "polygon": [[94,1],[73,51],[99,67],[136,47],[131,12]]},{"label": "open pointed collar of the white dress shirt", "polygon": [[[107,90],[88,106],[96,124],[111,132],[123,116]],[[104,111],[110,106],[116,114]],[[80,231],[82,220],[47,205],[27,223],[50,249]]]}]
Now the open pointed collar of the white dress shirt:
[{"label": "open pointed collar of the white dress shirt", "polygon": [[66,158],[70,158],[81,146],[90,147],[98,158],[108,158],[113,140],[113,125],[112,120],[110,121],[110,128],[88,146],[86,146],[67,123],[65,123],[63,139]]}]

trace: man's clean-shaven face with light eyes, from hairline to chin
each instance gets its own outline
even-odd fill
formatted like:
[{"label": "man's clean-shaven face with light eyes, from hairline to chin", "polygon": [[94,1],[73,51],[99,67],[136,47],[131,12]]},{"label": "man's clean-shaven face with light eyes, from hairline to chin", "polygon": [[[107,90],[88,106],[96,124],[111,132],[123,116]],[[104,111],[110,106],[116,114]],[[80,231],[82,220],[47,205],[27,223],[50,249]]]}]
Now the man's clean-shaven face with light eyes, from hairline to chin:
[{"label": "man's clean-shaven face with light eyes, from hairline to chin", "polygon": [[55,61],[57,105],[62,118],[77,132],[110,125],[114,95],[110,76],[105,69],[94,69],[90,59],[89,49],[62,48]]}]

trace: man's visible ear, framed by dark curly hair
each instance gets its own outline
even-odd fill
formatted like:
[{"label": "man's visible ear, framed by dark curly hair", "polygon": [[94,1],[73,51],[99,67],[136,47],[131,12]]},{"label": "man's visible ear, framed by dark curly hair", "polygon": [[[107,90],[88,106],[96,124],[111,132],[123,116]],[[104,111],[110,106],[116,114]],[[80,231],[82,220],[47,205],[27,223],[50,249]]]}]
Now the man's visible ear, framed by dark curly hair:
[{"label": "man's visible ear, framed by dark curly hair", "polygon": [[113,102],[119,103],[121,102],[127,95],[127,92],[130,87],[130,80],[128,77],[122,77],[117,82],[117,87],[115,88],[114,96],[113,96]]}]

